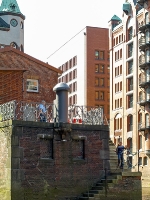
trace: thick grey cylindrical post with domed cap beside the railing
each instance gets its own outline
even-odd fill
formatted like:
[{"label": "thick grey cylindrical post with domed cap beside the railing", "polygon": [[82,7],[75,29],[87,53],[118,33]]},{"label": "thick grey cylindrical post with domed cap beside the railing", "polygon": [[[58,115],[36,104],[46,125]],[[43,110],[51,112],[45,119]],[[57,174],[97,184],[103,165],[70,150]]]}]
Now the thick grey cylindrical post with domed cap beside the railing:
[{"label": "thick grey cylindrical post with domed cap beside the railing", "polygon": [[56,92],[55,119],[56,122],[68,122],[68,91],[70,87],[66,83],[58,83],[53,91]]}]

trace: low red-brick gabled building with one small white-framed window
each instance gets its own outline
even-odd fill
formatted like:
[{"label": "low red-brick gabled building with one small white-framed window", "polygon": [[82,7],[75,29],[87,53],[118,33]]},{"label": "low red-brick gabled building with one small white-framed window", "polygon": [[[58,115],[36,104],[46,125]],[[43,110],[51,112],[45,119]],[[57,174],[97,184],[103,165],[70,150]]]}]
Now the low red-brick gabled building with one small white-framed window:
[{"label": "low red-brick gabled building with one small white-framed window", "polygon": [[0,104],[11,100],[52,103],[61,70],[12,47],[0,49]]}]

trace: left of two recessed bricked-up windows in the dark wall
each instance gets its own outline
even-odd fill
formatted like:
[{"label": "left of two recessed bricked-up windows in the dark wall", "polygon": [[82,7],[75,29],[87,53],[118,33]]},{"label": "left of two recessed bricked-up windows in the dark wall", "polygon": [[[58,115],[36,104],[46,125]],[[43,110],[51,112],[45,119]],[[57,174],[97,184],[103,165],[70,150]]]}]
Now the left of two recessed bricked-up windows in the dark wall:
[{"label": "left of two recessed bricked-up windows in the dark wall", "polygon": [[43,159],[53,159],[53,140],[40,138],[40,157]]}]

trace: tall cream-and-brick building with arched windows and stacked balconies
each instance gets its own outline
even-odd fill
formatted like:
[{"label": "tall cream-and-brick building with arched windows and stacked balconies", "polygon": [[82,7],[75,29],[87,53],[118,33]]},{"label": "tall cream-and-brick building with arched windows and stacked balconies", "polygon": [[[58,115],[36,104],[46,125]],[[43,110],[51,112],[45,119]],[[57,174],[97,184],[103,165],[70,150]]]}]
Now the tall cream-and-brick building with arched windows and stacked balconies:
[{"label": "tall cream-and-brick building with arched windows and stacked balconies", "polygon": [[150,179],[150,1],[126,1],[109,21],[110,137],[130,150],[129,166]]}]

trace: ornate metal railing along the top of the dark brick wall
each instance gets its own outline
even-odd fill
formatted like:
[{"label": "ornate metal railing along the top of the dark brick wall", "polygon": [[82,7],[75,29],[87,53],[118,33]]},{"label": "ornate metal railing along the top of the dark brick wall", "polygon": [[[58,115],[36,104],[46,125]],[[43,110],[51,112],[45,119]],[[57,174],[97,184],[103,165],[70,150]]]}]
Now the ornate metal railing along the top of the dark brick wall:
[{"label": "ornate metal railing along the top of the dark brick wall", "polygon": [[[40,121],[39,112],[40,103],[10,101],[0,105],[0,121],[22,120],[22,121]],[[46,122],[53,123],[58,121],[54,114],[56,106],[46,104]],[[71,105],[68,107],[68,122],[81,123],[89,125],[103,124],[103,109],[101,107],[88,107]]]}]

